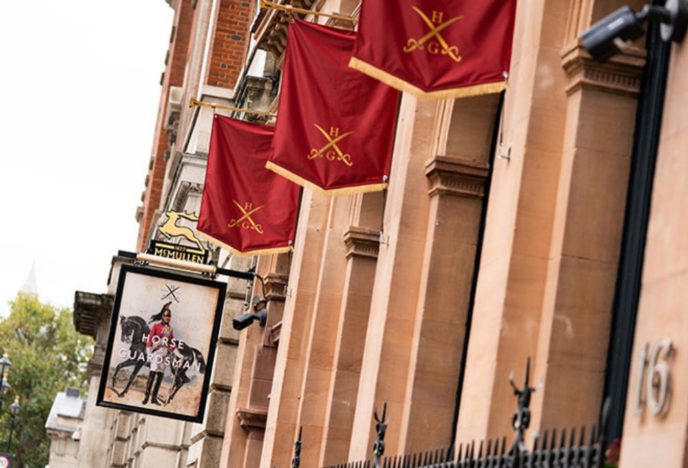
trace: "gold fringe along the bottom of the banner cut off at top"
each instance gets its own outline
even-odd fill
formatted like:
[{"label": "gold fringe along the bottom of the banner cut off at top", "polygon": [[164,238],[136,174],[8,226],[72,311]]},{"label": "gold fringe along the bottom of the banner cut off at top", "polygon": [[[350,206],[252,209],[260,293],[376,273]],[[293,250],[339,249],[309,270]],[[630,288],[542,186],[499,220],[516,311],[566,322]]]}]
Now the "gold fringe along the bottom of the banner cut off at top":
[{"label": "gold fringe along the bottom of the banner cut off at top", "polygon": [[369,63],[362,61],[359,58],[352,57],[349,61],[349,66],[363,72],[368,76],[372,76],[378,81],[382,81],[401,92],[411,94],[418,100],[440,100],[440,99],[454,99],[454,98],[469,98],[471,96],[480,96],[481,94],[495,94],[502,92],[504,89],[504,81],[497,83],[485,83],[484,85],[473,85],[453,89],[442,89],[441,91],[423,91],[419,87],[413,86],[394,75],[391,75],[378,67],[374,67]]}]

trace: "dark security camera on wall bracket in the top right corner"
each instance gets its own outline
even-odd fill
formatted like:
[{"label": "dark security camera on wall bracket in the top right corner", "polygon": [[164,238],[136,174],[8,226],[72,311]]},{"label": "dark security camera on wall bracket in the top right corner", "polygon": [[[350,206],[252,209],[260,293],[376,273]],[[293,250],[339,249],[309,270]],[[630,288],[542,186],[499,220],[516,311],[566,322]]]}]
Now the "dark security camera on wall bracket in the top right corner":
[{"label": "dark security camera on wall bracket in the top right corner", "polygon": [[581,34],[583,46],[596,61],[604,62],[643,36],[645,21],[661,23],[660,35],[665,42],[680,42],[688,27],[688,0],[667,0],[664,6],[645,5],[639,13],[629,6],[621,7]]}]

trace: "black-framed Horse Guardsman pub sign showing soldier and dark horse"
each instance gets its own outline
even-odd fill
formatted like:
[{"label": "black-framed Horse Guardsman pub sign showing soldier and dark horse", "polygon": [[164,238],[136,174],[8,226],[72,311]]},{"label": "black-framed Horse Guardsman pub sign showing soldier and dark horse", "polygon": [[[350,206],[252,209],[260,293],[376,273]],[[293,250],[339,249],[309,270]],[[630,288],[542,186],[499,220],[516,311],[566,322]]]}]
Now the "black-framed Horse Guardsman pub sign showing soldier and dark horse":
[{"label": "black-framed Horse Guardsman pub sign showing soldier and dark horse", "polygon": [[96,404],[202,422],[226,287],[123,265]]}]

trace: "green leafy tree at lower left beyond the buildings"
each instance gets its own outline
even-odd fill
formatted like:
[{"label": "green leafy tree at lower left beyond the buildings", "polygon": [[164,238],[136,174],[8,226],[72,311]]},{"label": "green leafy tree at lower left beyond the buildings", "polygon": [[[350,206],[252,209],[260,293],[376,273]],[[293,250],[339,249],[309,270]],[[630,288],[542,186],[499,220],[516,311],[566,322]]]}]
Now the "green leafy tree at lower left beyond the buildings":
[{"label": "green leafy tree at lower left beyond the buildings", "polygon": [[[14,468],[43,468],[48,463],[50,438],[45,421],[58,392],[67,386],[87,390],[86,366],[93,340],[72,324],[72,310],[41,304],[19,293],[10,302],[10,315],[0,320],[0,348],[12,361],[0,415],[0,451],[7,449],[10,403],[19,395],[21,410],[14,422],[11,452]],[[1,349],[0,349],[1,351]]]}]

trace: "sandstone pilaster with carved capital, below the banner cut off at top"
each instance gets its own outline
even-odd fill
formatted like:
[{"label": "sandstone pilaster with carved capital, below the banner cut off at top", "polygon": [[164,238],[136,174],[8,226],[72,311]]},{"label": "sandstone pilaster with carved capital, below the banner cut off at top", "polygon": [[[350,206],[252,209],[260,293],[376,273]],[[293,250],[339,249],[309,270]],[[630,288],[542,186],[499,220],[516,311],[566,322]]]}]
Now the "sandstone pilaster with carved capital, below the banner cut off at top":
[{"label": "sandstone pilaster with carved capital, below the banner cut off at top", "polygon": [[[465,112],[471,104],[486,103],[469,99],[455,105]],[[464,157],[436,156],[426,168],[431,205],[411,345],[411,375],[401,415],[400,448],[404,453],[431,449],[451,439],[496,99],[492,104],[486,106],[492,110],[486,119],[463,129],[474,130],[473,141],[478,143],[474,147],[480,153],[477,158],[469,159],[471,136],[466,134]],[[459,126],[452,127],[462,131]],[[487,138],[479,138],[480,133]]]}]

